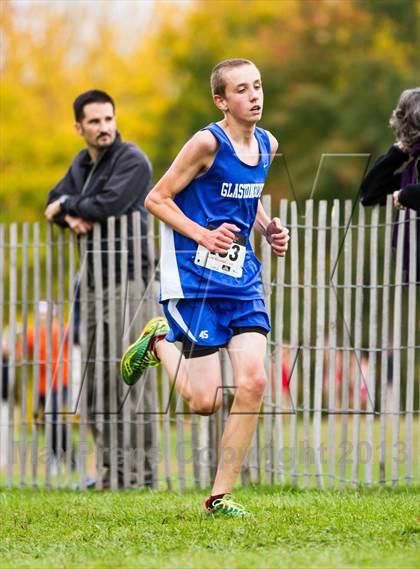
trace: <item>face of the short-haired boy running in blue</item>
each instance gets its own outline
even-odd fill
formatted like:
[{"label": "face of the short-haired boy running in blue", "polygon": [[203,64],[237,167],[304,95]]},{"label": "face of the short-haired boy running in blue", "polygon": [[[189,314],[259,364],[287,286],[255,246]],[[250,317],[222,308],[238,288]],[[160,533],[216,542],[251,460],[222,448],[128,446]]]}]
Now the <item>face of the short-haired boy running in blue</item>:
[{"label": "face of the short-haired boy running in blue", "polygon": [[261,119],[264,94],[261,75],[255,65],[241,65],[225,71],[223,101],[231,115],[249,123]]}]

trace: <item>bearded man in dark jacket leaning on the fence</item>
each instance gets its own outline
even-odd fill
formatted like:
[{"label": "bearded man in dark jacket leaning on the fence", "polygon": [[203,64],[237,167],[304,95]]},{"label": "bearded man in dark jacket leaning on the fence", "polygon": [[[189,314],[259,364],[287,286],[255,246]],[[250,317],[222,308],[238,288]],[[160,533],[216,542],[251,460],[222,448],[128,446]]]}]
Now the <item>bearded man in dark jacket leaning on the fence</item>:
[{"label": "bearded man in dark jacket leaning on the fence", "polygon": [[[136,146],[121,141],[117,131],[115,119],[115,105],[113,99],[105,92],[92,90],[82,93],[73,104],[76,119],[76,131],[84,139],[87,148],[82,150],[73,160],[67,174],[50,191],[45,216],[48,221],[57,223],[62,227],[69,227],[77,235],[87,234],[87,270],[88,270],[88,298],[87,303],[81,302],[82,310],[87,307],[87,383],[88,383],[88,418],[91,422],[95,440],[103,445],[102,472],[97,475],[102,478],[102,487],[109,487],[111,483],[111,427],[110,415],[116,410],[111,409],[111,390],[116,391],[116,403],[121,407],[120,381],[118,368],[115,373],[109,372],[109,335],[114,334],[116,341],[120,342],[123,335],[122,314],[124,303],[128,305],[131,315],[136,313],[139,298],[142,291],[136,290],[134,283],[134,253],[133,224],[128,215],[127,242],[128,242],[128,283],[121,282],[121,248],[120,224],[116,220],[115,243],[112,249],[116,251],[115,258],[115,299],[112,305],[108,298],[108,235],[107,218],[116,218],[124,214],[141,212],[141,233],[146,236],[146,210],[144,199],[151,187],[151,165],[146,155]],[[100,421],[95,416],[95,353],[97,317],[95,314],[95,279],[93,270],[93,223],[101,224],[101,249],[102,249],[102,285],[103,285],[103,319],[104,319],[104,406],[105,415]],[[145,239],[142,239],[142,271],[143,278],[147,274],[147,247]],[[115,328],[110,330],[110,322],[115,322]],[[117,344],[117,358],[122,347]],[[96,388],[95,388],[96,387]],[[137,425],[135,403],[133,398],[127,398],[124,403],[129,405],[130,413],[130,449],[125,454],[129,461],[129,485],[136,486],[137,467],[136,451]],[[150,405],[150,398],[146,394],[146,408]],[[108,411],[108,413],[107,413]],[[122,415],[122,411],[121,411]],[[118,485],[124,481],[124,462],[122,449],[127,451],[127,444],[123,444],[123,421],[118,415]],[[145,450],[151,447],[150,425],[145,425]],[[143,449],[141,449],[143,450]],[[115,455],[114,455],[115,456]],[[152,485],[152,469],[149,461],[145,462],[145,483]]]}]

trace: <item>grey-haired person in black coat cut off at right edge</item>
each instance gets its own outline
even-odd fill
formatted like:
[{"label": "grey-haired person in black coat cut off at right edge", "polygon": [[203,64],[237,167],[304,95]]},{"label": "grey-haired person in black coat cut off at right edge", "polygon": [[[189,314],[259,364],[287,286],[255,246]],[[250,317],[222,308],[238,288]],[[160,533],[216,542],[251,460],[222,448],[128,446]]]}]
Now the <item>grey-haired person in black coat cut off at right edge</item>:
[{"label": "grey-haired person in black coat cut off at right edge", "polygon": [[[409,209],[417,212],[417,285],[420,283],[420,87],[402,92],[389,126],[396,142],[380,156],[364,178],[360,191],[365,206],[385,205],[392,193],[397,210],[406,210],[403,249],[403,282],[408,283],[410,259]],[[405,167],[402,169],[402,167]],[[398,211],[397,211],[398,218]],[[392,246],[397,245],[399,226],[394,225]]]}]

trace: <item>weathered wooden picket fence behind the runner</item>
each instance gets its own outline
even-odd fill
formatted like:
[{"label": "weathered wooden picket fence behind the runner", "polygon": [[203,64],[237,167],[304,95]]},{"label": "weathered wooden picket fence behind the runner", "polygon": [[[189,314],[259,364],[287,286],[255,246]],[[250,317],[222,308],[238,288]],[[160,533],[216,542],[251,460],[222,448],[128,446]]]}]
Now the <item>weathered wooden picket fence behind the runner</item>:
[{"label": "weathered wooden picket fence behind the runner", "polygon": [[[282,200],[278,211],[271,207],[268,196],[264,206],[273,214],[279,213],[290,229],[291,241],[286,259],[282,259],[272,257],[265,241],[255,236],[273,329],[267,353],[268,388],[258,430],[242,469],[242,483],[320,488],[412,484],[420,475],[415,213],[410,213],[410,223],[406,224],[410,232],[406,283],[402,276],[404,214],[400,213],[398,245],[393,251],[394,210],[390,200],[386,208],[363,208],[339,200],[301,205]],[[149,220],[148,234],[141,236],[139,215],[135,214],[133,226],[134,278],[139,291],[143,290],[142,247],[148,250],[149,274],[146,292],[139,294],[139,310],[129,313],[126,307],[120,349],[128,344],[129,328],[138,333],[142,322],[160,313],[154,292],[158,245],[154,224]],[[113,302],[114,228],[115,220],[110,218],[108,299],[104,299],[101,284],[99,226],[93,233],[98,313],[105,300],[111,306]],[[120,239],[124,285],[124,218]],[[79,484],[83,489],[86,476],[95,477],[95,469],[101,464],[103,449],[94,445],[90,435],[84,381],[89,358],[86,238],[79,245],[78,255],[74,235],[51,225],[0,225],[0,345],[4,372],[8,372],[7,394],[3,393],[0,406],[0,486],[52,488]],[[81,278],[80,350],[73,339],[76,273]],[[43,299],[48,307],[45,362],[40,361],[39,307]],[[58,363],[53,361],[54,318],[59,329]],[[28,343],[30,329],[33,347]],[[147,452],[153,464],[153,487],[182,490],[208,486],[215,473],[217,442],[229,412],[229,390],[224,390],[224,405],[216,415],[199,417],[189,413],[182,400],[176,398],[165,373],[153,369],[148,372],[146,387],[152,392],[152,408],[145,413],[141,393],[127,393],[118,377],[120,339],[111,330],[109,353],[103,353],[101,330],[99,325],[94,355],[98,389],[103,392],[101,366],[109,365],[118,389],[138,400],[135,450],[139,485],[144,482],[144,425],[150,420],[153,437]],[[224,382],[231,385],[231,369],[223,351],[221,357]],[[47,396],[40,409],[43,363]],[[103,420],[98,416],[97,421]],[[108,420],[111,428],[116,428],[118,421],[129,419],[122,409]],[[58,441],[63,433],[67,439],[65,450],[59,443],[55,454],[54,432]],[[115,476],[112,487],[117,487]]]}]

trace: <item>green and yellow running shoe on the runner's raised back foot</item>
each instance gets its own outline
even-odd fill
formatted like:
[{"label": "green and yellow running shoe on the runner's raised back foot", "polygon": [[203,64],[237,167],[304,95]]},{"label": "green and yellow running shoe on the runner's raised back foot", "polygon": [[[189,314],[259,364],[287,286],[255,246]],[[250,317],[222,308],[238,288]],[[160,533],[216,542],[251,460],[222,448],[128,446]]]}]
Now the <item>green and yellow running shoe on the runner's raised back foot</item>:
[{"label": "green and yellow running shoe on the runner's raised back foot", "polygon": [[169,324],[158,316],[149,320],[142,333],[121,358],[121,375],[127,385],[134,385],[141,378],[148,367],[156,367],[160,360],[150,349],[151,342],[156,336],[166,336],[169,332]]}]

